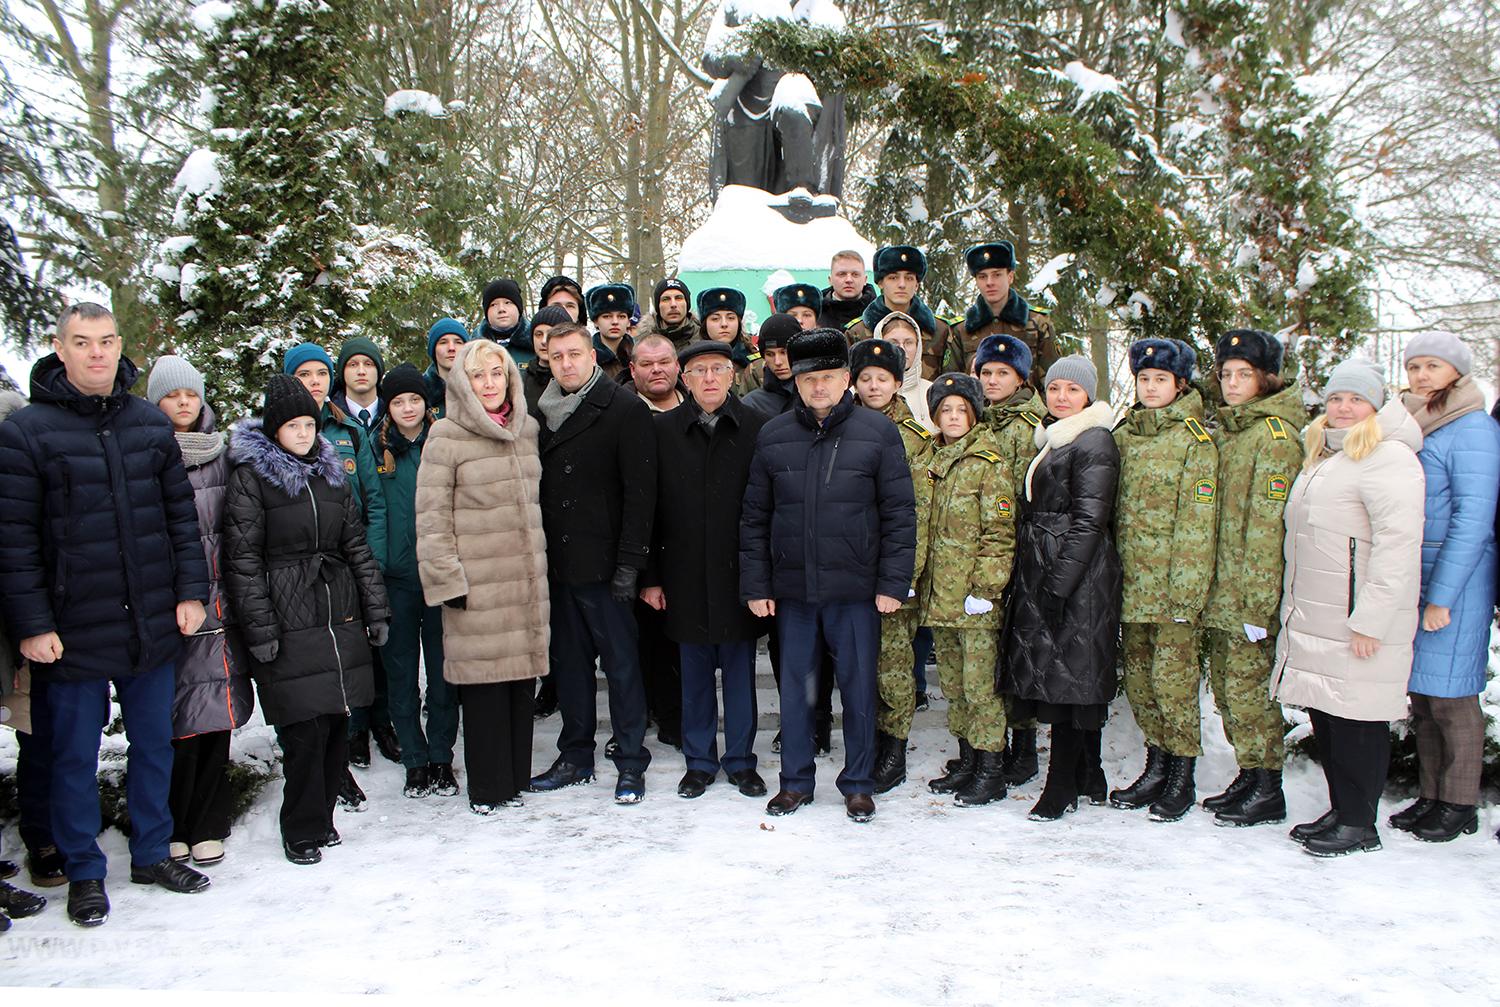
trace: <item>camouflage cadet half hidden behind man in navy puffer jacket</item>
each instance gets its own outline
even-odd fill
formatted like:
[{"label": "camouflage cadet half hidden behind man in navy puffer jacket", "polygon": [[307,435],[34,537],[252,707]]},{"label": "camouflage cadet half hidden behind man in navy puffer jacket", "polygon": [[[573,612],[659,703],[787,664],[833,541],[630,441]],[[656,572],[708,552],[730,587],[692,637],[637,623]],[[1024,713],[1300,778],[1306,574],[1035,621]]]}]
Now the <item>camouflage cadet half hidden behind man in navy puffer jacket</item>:
[{"label": "camouflage cadet half hidden behind man in navy puffer jacket", "polygon": [[[927,558],[927,504],[932,498],[933,435],[912,417],[898,392],[906,372],[906,354],[894,342],[866,339],[849,351],[849,375],[860,405],[891,417],[906,446],[916,492],[916,569],[915,584]],[[918,602],[908,599],[902,608],[880,615],[880,657],[876,672],[879,710],[876,713],[874,792],[885,794],[906,779],[906,738],[912,734],[916,695],[912,689],[912,639],[918,629]]]}]

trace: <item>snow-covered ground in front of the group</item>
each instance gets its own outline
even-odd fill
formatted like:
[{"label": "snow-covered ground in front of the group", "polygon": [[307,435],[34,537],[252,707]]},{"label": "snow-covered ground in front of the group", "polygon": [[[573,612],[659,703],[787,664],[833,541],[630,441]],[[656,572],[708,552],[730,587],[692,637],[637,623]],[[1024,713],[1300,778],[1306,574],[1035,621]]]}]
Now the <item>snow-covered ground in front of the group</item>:
[{"label": "snow-covered ground in front of the group", "polygon": [[[764,657],[762,657],[764,665]],[[764,675],[760,770],[774,693]],[[603,690],[600,690],[603,708]],[[555,752],[538,725],[534,765]],[[1233,773],[1212,704],[1200,794]],[[600,744],[608,737],[603,722]],[[114,912],[66,920],[66,890],[0,936],[0,983],[21,986],[393,993],[532,993],[580,1002],[1496,1002],[1500,813],[1479,836],[1430,846],[1382,828],[1376,854],[1323,861],[1286,828],[1326,807],[1322,773],[1287,773],[1287,825],[1216,828],[1083,807],[1059,824],[1026,812],[1034,780],[1000,806],[932,795],[954,744],[942,704],[918,714],[910,779],[844,819],[842,746],[819,759],[813,806],[770,818],[724,780],[676,797],[681,756],[654,741],[646,800],[591,786],[528,795],[492,819],[464,797],[406,800],[376,755],[364,813],[322,864],[282,858],[273,785],[234,831],[213,888],[129,884],[118,833]],[[1140,768],[1124,701],[1106,732],[1110,783]],[[1046,758],[1046,755],[1044,755]],[[462,780],[462,758],[459,759]],[[1383,816],[1401,806],[1392,795]],[[16,851],[14,827],[4,848]]]}]

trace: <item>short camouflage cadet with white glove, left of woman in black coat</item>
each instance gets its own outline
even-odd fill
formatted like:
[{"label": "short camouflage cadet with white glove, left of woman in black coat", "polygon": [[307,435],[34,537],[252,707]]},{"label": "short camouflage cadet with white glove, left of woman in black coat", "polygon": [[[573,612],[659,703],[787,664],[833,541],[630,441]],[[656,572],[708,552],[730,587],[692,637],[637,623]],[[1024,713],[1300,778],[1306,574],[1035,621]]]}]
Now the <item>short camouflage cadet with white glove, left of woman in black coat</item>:
[{"label": "short camouflage cadet with white glove, left of woman in black coat", "polygon": [[927,390],[938,423],[927,564],[916,582],[921,621],[933,629],[948,729],[974,747],[972,774],[932,782],[962,807],[1005,797],[1005,701],[994,690],[1000,603],[1016,558],[1016,489],[994,434],[980,423],[978,378],[944,374]]}]

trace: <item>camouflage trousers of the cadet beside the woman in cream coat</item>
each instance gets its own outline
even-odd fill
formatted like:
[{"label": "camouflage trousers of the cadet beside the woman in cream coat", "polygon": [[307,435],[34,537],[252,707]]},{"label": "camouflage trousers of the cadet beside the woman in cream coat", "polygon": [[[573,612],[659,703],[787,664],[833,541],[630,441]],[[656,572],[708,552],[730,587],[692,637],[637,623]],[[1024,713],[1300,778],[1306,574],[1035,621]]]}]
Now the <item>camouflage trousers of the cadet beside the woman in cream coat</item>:
[{"label": "camouflage trousers of the cadet beside the woman in cream coat", "polygon": [[1204,642],[1214,705],[1224,717],[1224,737],[1234,746],[1234,761],[1242,770],[1280,770],[1287,744],[1281,704],[1270,698],[1275,633],[1252,644],[1244,633],[1210,629]]}]

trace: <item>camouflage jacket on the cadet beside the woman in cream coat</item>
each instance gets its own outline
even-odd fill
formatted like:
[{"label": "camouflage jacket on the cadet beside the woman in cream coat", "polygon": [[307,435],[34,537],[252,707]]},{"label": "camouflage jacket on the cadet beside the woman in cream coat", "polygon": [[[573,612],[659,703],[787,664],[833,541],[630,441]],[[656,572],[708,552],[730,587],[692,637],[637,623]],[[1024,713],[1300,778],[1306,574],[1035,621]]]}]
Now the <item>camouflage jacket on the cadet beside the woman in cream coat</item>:
[{"label": "camouflage jacket on the cadet beside the woman in cream coat", "polygon": [[1239,633],[1248,623],[1275,633],[1284,567],[1281,512],[1302,470],[1306,422],[1298,384],[1218,410],[1218,560],[1203,606],[1203,623],[1212,629]]}]

